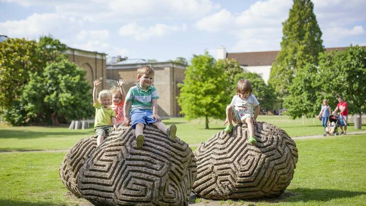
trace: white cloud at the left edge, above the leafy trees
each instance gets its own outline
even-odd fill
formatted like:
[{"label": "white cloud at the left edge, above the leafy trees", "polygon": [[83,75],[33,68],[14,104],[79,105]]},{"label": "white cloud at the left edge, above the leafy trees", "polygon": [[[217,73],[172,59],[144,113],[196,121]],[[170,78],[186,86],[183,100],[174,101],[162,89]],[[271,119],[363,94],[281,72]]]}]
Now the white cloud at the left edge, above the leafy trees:
[{"label": "white cloud at the left edge, above the leafy trees", "polygon": [[33,14],[25,20],[0,22],[0,31],[11,37],[38,38],[51,34],[62,37],[76,32],[81,22],[59,14]]}]

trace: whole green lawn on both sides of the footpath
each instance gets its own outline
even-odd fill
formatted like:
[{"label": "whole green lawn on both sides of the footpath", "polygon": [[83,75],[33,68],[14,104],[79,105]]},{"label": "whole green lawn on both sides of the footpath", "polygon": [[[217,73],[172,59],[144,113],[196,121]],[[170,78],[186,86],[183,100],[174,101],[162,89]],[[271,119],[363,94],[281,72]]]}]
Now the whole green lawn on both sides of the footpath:
[{"label": "whole green lawn on both sides of the footpath", "polygon": [[[291,137],[323,133],[320,121],[291,120],[284,116],[259,116],[258,121],[283,128]],[[177,136],[188,144],[205,142],[223,129],[221,120],[183,118],[163,120],[177,124]],[[364,124],[362,130],[366,130]],[[355,131],[353,124],[348,132]],[[359,130],[358,130],[359,131]],[[26,151],[68,149],[78,140],[93,135],[93,129],[0,124],[0,206],[79,205],[86,203],[68,195],[61,183],[59,166],[64,151]],[[296,140],[299,162],[286,195],[276,199],[223,201],[224,205],[366,205],[366,134]],[[192,146],[195,150],[197,146]],[[202,199],[204,202],[205,200]]]}]

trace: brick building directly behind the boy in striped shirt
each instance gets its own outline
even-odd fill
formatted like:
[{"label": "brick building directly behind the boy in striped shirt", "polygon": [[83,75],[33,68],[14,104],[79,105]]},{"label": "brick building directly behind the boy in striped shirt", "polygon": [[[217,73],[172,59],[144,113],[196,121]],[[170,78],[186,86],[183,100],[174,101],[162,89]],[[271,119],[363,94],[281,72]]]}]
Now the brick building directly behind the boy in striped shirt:
[{"label": "brick building directly behind the boy in striped shirt", "polygon": [[183,83],[186,65],[175,62],[147,62],[142,59],[108,58],[106,64],[107,82],[109,87],[117,85],[123,78],[126,81],[126,92],[137,84],[137,69],[149,65],[155,70],[153,85],[156,87],[158,99],[158,115],[161,117],[179,117],[181,107],[176,97],[179,96],[178,83]]}]

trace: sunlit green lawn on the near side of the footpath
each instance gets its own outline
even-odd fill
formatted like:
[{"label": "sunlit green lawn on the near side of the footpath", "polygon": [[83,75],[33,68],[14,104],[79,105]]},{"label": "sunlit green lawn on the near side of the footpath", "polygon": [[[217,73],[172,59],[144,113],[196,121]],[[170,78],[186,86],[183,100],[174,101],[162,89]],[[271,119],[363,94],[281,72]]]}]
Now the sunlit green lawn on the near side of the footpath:
[{"label": "sunlit green lawn on the near side of the footpath", "polygon": [[[366,134],[297,140],[299,162],[288,194],[225,205],[365,205]],[[59,177],[65,152],[0,153],[0,205],[74,205]],[[204,200],[203,200],[204,201]]]}]

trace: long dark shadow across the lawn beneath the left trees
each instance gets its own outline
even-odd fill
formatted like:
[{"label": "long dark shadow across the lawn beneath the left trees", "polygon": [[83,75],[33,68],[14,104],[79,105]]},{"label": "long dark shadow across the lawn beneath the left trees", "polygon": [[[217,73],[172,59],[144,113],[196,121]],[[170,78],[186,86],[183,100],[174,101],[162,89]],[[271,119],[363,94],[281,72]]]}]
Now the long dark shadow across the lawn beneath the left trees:
[{"label": "long dark shadow across the lawn beneath the left trees", "polygon": [[[0,139],[7,139],[7,138],[17,138],[17,139],[30,139],[30,138],[43,138],[48,136],[60,136],[63,138],[65,136],[76,136],[76,135],[89,135],[92,134],[90,132],[35,132],[29,130],[9,130],[9,129],[0,129]],[[59,137],[55,137],[59,138]]]}]

